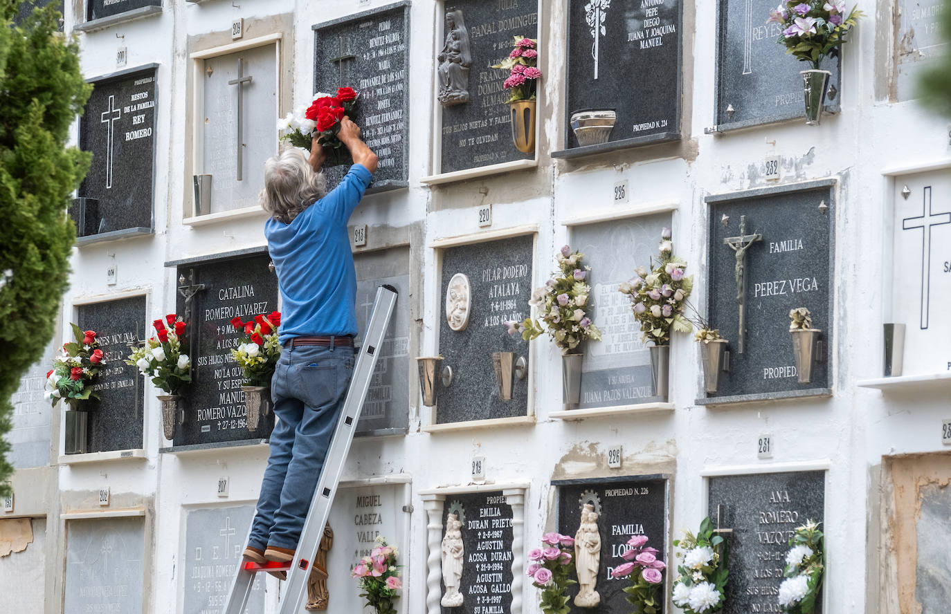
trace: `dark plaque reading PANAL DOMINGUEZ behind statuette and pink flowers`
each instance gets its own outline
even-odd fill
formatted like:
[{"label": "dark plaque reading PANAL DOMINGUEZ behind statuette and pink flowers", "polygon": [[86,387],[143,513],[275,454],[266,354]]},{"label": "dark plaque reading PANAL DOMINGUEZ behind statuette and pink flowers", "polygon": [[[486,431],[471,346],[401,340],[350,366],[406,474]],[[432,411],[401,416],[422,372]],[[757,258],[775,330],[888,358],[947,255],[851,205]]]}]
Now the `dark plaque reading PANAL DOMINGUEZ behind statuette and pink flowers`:
[{"label": "dark plaque reading PANAL DOMINGUEZ behind statuette and pink flowers", "polygon": [[[531,154],[519,152],[512,143],[509,106],[506,105],[509,90],[502,87],[509,71],[492,66],[512,52],[514,36],[537,38],[537,0],[457,0],[443,3],[441,7],[443,14],[445,10],[462,11],[462,20],[469,32],[472,67],[469,101],[442,107],[440,172],[532,158]],[[449,34],[444,22],[437,32],[442,32],[438,45],[442,48],[442,41]]]}]

